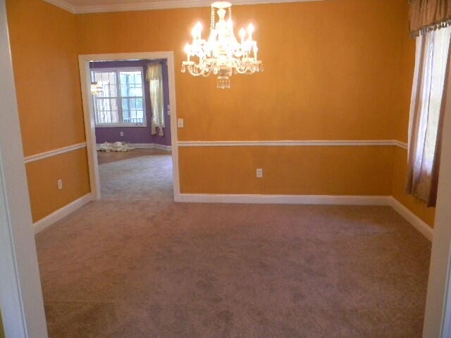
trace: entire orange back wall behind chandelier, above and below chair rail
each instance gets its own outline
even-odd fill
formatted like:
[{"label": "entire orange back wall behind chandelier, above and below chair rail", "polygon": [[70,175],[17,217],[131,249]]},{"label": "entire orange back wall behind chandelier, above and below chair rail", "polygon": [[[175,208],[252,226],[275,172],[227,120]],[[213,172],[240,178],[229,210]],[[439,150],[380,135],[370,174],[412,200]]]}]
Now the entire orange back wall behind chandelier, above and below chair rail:
[{"label": "entire orange back wall behind chandelier, above and below chair rail", "polygon": [[[175,51],[180,140],[394,139],[407,11],[404,0],[234,6],[237,26],[256,26],[265,70],[234,76],[230,90],[179,70],[192,25],[209,25],[208,8],[83,14],[77,25],[80,54]],[[179,164],[181,192],[392,190],[392,147],[183,147]]]}]

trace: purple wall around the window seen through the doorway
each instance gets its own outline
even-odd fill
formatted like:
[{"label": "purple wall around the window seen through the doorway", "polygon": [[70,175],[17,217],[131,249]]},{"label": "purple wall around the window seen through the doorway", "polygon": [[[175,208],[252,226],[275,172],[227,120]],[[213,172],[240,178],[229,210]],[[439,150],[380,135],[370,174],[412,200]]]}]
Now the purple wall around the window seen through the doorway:
[{"label": "purple wall around the window seen through the doorway", "polygon": [[[163,65],[163,101],[164,101],[164,136],[151,134],[152,107],[149,97],[149,81],[145,80],[147,64],[160,62]],[[105,61],[94,62],[91,69],[114,68],[114,67],[142,67],[144,70],[144,93],[146,95],[146,127],[97,127],[96,142],[129,142],[129,143],[156,143],[171,145],[171,116],[168,115],[169,104],[169,81],[168,81],[168,64],[166,60],[137,60],[137,61]],[[121,132],[124,136],[121,137]],[[157,130],[158,132],[158,130]]]}]

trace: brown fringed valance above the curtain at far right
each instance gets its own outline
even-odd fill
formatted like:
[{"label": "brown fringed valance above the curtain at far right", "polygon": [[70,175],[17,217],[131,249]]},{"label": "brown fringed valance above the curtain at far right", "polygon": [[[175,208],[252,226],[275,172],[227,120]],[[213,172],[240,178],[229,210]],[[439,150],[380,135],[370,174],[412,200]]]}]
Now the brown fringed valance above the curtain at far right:
[{"label": "brown fringed valance above the curtain at far right", "polygon": [[410,0],[410,35],[451,25],[451,0]]}]

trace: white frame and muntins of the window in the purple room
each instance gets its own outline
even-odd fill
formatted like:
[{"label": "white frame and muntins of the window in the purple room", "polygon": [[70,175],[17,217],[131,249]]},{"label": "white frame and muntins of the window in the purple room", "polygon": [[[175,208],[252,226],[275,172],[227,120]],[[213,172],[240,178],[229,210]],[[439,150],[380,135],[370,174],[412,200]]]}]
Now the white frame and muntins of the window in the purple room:
[{"label": "white frame and muntins of the window in the purple room", "polygon": [[[122,96],[121,95],[121,72],[130,72],[130,71],[139,71],[141,73],[141,83],[142,83],[142,109],[144,113],[144,118],[142,123],[97,123],[97,105],[96,105],[96,96],[92,95],[92,102],[94,104],[94,123],[96,128],[111,128],[111,127],[147,127],[147,98],[145,87],[145,79],[144,79],[144,68],[140,66],[136,67],[111,67],[111,68],[91,68],[90,75],[91,81],[95,79],[94,73],[116,73],[116,90],[117,90],[117,105],[118,105],[118,118],[123,121],[123,113],[122,113],[122,100],[130,99],[131,96]],[[110,96],[109,96],[110,97]],[[136,96],[140,98],[141,96]]]}]

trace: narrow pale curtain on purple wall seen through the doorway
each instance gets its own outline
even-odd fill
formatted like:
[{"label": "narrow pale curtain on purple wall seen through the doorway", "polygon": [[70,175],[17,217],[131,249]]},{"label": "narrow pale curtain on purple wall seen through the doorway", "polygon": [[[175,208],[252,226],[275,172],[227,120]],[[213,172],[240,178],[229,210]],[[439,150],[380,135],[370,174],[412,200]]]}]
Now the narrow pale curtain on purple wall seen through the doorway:
[{"label": "narrow pale curtain on purple wall seen through the doorway", "polygon": [[161,63],[147,65],[146,80],[150,84],[150,102],[152,104],[152,134],[163,136],[164,104],[163,104],[163,76]]}]

